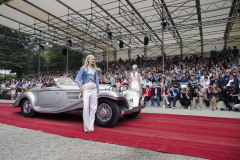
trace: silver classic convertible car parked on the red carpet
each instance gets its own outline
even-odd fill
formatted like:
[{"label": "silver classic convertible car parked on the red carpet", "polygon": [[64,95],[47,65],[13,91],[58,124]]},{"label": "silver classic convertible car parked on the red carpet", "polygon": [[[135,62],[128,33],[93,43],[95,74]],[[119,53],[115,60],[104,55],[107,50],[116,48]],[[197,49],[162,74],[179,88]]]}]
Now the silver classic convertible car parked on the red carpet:
[{"label": "silver classic convertible car parked on the red carpet", "polygon": [[[21,107],[25,117],[37,113],[61,113],[83,108],[79,87],[70,78],[54,79],[54,87],[35,87],[20,95],[13,107]],[[96,111],[96,123],[101,127],[114,126],[120,114],[126,118],[136,118],[146,105],[140,92],[125,90],[119,93],[111,85],[100,84]]]}]

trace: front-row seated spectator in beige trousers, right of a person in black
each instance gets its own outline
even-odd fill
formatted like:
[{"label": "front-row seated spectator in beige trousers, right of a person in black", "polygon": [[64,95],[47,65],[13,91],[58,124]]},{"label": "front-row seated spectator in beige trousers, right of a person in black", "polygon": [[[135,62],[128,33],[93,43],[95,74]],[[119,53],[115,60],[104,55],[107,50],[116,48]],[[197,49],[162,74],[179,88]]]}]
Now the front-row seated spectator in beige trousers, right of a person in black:
[{"label": "front-row seated spectator in beige trousers, right of a person in black", "polygon": [[199,107],[198,109],[202,109],[202,104],[203,104],[203,100],[204,100],[204,96],[203,96],[203,92],[204,92],[204,88],[198,84],[198,88],[196,88],[194,90],[195,94],[193,97],[193,104],[192,104],[192,108],[191,109],[196,109],[196,102],[199,101]]}]

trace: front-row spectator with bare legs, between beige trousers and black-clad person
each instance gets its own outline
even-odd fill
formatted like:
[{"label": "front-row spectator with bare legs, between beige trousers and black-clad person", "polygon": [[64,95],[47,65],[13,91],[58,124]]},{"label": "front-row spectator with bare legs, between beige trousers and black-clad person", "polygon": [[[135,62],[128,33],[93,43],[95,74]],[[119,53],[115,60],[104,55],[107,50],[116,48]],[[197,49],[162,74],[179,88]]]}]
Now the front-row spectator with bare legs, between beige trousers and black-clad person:
[{"label": "front-row spectator with bare legs, between beige trousers and black-clad person", "polygon": [[216,106],[216,109],[218,109],[217,106],[217,100],[218,100],[218,86],[217,83],[214,83],[213,85],[208,86],[208,94],[209,94],[209,99],[212,102],[212,110],[214,111],[214,106]]}]

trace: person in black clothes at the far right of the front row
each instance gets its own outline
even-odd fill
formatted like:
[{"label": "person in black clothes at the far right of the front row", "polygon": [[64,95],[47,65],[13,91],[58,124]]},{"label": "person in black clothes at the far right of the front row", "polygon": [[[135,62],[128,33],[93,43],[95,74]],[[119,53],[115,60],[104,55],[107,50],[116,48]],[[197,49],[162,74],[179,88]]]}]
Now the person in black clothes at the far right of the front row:
[{"label": "person in black clothes at the far right of the front row", "polygon": [[239,88],[235,82],[231,82],[231,88],[226,91],[226,96],[224,97],[224,104],[226,105],[226,110],[231,111],[232,106],[229,102],[234,102],[235,104],[238,103],[238,95],[239,95]]}]

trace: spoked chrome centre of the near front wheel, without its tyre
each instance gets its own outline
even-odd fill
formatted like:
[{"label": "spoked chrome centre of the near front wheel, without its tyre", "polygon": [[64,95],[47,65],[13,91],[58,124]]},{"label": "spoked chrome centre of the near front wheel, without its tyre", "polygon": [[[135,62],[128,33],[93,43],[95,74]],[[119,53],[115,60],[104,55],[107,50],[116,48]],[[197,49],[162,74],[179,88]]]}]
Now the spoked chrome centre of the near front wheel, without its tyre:
[{"label": "spoked chrome centre of the near front wheel, without its tyre", "polygon": [[102,122],[107,122],[112,118],[112,108],[109,104],[101,103],[97,109],[97,117]]}]

